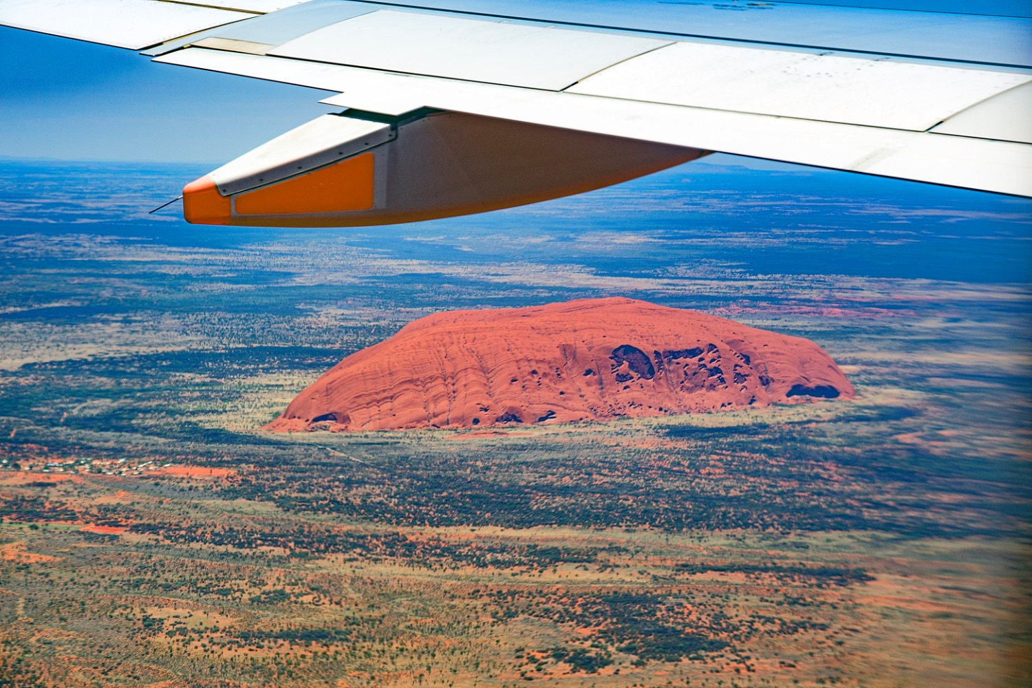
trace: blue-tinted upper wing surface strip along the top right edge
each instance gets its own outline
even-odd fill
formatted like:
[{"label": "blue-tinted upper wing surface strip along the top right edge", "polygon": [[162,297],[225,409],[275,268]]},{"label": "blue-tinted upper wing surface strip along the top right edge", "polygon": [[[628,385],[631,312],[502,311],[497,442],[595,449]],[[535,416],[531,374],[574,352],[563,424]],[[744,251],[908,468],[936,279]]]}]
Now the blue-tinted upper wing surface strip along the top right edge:
[{"label": "blue-tinted upper wing surface strip along the top right edge", "polygon": [[[971,10],[950,13],[744,0],[418,0],[405,4],[560,26],[1032,66],[1032,20],[1001,17],[1008,12],[993,10],[1005,5],[990,2],[967,4],[997,17]],[[939,9],[933,3],[922,4],[929,10]],[[941,4],[956,7],[958,3]]]}]

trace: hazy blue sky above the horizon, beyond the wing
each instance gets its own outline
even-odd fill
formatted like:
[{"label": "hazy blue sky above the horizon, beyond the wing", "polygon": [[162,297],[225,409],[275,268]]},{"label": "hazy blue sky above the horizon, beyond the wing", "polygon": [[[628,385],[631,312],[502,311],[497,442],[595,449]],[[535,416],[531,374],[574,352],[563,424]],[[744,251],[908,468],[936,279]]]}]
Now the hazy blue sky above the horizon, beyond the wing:
[{"label": "hazy blue sky above the horizon, beyond the wing", "polygon": [[[521,6],[489,4],[514,12]],[[793,4],[1032,13],[1032,0]],[[332,109],[318,103],[325,92],[153,64],[131,51],[7,28],[0,28],[0,156],[221,163]]]}]

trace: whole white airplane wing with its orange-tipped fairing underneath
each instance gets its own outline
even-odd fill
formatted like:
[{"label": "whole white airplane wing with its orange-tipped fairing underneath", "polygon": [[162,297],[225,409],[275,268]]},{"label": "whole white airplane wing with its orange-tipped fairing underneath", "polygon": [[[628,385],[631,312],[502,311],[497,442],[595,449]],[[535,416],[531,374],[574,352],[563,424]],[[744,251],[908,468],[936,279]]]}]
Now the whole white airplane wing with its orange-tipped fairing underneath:
[{"label": "whole white airplane wing with its orange-tipped fairing underneath", "polygon": [[358,226],[711,152],[1032,196],[1032,22],[779,2],[0,0],[0,25],[336,92],[184,189],[190,222]]}]

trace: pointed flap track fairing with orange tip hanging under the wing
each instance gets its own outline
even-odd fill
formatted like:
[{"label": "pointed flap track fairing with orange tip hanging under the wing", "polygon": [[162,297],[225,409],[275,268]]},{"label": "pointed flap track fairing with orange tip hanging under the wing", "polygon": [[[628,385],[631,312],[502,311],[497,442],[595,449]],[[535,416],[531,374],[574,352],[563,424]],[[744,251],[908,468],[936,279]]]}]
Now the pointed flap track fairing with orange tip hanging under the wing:
[{"label": "pointed flap track fairing with orange tip hanging under the wing", "polygon": [[483,212],[642,176],[705,152],[459,112],[348,110],[188,185],[208,225],[357,227]]}]

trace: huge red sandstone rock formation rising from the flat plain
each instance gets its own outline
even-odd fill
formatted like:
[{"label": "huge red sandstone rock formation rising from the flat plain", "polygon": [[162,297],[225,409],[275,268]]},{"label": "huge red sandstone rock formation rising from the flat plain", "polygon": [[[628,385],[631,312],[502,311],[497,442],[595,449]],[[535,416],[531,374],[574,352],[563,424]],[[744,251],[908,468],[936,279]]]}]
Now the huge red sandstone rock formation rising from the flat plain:
[{"label": "huge red sandstone rock formation rising from the flat plain", "polygon": [[567,423],[853,395],[819,347],[628,298],[454,310],[347,357],[266,428]]}]

